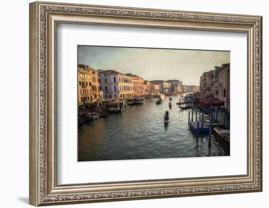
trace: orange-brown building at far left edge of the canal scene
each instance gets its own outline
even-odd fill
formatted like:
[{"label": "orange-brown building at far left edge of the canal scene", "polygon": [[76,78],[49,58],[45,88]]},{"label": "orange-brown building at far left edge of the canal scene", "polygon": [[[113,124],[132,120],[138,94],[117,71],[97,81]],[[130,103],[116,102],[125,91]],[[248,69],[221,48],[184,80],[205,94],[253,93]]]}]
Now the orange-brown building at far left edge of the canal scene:
[{"label": "orange-brown building at far left edge of the canal scene", "polygon": [[103,98],[100,86],[98,71],[92,67],[79,64],[78,65],[78,104],[86,104]]}]

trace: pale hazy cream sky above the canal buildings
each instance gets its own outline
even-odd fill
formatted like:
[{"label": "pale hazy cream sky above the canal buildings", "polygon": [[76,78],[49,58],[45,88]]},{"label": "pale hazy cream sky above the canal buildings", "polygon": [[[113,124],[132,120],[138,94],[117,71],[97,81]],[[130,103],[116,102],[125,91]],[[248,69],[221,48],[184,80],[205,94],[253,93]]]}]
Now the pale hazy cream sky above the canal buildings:
[{"label": "pale hazy cream sky above the canal buildings", "polygon": [[147,80],[178,79],[184,85],[200,85],[202,73],[224,63],[230,63],[230,52],[78,46],[78,64],[132,73]]}]

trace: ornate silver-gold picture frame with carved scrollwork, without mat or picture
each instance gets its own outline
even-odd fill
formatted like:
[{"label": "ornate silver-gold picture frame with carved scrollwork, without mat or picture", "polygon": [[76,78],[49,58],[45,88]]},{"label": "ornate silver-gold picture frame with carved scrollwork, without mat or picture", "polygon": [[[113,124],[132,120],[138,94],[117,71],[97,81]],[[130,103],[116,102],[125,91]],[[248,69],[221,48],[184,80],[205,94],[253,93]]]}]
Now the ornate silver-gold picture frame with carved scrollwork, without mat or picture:
[{"label": "ornate silver-gold picture frame with carved scrollwork, without mat or picture", "polygon": [[[261,16],[55,2],[33,2],[30,3],[29,10],[29,203],[31,205],[262,191]],[[245,86],[247,174],[59,185],[56,87],[59,23],[247,34],[247,86]]]}]

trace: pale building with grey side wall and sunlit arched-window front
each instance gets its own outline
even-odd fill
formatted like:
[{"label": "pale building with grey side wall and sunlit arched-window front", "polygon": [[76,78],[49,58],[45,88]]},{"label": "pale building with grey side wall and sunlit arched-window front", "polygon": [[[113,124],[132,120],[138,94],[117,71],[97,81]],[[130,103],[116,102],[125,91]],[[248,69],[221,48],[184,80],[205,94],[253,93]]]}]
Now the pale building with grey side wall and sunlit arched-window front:
[{"label": "pale building with grey side wall and sunlit arched-window front", "polygon": [[114,70],[98,70],[99,82],[106,99],[134,96],[133,77]]}]

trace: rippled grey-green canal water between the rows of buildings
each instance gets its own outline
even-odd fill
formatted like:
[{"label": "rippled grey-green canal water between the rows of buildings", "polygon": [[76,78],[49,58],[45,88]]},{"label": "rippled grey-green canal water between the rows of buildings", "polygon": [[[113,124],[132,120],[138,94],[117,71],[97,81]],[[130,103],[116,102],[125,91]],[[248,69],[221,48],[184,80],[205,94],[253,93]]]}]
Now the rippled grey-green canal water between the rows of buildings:
[{"label": "rippled grey-green canal water between the rows of buildings", "polygon": [[[172,96],[156,104],[157,98],[131,106],[123,113],[111,113],[78,128],[78,161],[130,160],[229,155],[229,149],[212,130],[211,147],[208,133],[188,130],[188,111],[181,110]],[[164,113],[169,111],[169,123]],[[194,113],[195,116],[195,113]]]}]

